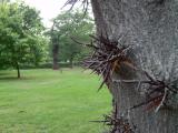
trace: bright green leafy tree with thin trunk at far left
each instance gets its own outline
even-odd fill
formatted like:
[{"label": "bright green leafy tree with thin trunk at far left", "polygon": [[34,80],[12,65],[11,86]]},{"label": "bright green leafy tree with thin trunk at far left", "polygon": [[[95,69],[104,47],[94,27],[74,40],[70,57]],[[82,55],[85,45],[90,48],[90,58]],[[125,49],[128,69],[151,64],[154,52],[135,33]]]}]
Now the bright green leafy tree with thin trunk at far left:
[{"label": "bright green leafy tree with thin trunk at far left", "polygon": [[46,40],[39,12],[24,3],[0,4],[0,64],[16,68],[38,64],[42,60]]}]

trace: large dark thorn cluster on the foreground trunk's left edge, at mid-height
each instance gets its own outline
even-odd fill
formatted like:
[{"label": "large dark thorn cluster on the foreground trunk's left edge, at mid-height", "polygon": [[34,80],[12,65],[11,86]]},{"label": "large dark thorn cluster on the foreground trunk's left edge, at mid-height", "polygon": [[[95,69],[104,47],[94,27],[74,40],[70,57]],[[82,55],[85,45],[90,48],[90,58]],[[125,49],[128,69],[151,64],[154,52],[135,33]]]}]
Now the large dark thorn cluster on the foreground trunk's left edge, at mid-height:
[{"label": "large dark thorn cluster on the foreground trunk's left edge, at mid-height", "polygon": [[110,41],[108,37],[105,38],[102,34],[98,38],[90,37],[97,45],[92,42],[88,44],[93,49],[93,53],[83,61],[83,65],[103,78],[100,90],[105,83],[109,86],[112,72],[119,69],[121,63],[132,66],[132,62],[128,58],[130,47],[122,47],[118,41]]}]

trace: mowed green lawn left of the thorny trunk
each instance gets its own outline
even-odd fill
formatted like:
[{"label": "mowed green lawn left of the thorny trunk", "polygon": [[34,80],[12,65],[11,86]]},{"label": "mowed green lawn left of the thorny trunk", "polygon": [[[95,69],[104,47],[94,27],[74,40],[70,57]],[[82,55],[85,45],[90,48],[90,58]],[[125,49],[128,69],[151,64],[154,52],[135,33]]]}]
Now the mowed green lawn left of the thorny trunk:
[{"label": "mowed green lawn left of the thorny trunk", "polygon": [[0,133],[101,133],[107,89],[81,69],[0,71]]}]

